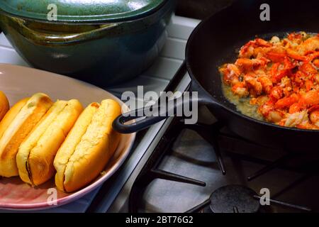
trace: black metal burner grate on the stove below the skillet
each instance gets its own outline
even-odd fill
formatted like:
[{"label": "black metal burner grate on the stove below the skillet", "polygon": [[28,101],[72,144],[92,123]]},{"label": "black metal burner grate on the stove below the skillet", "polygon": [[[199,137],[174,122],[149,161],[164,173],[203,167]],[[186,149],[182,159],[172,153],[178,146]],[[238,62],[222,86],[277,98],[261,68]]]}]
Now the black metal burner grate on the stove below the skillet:
[{"label": "black metal burner grate on the stove below the skillet", "polygon": [[[140,175],[138,175],[135,180],[133,187],[130,192],[129,199],[129,210],[130,212],[136,213],[139,211],[140,207],[142,207],[142,196],[147,189],[147,186],[155,179],[165,179],[175,182],[183,182],[186,184],[194,184],[199,187],[205,187],[206,182],[203,182],[198,179],[192,179],[190,177],[177,175],[172,172],[167,172],[164,170],[159,170],[158,166],[162,162],[163,157],[165,155],[169,155],[171,148],[184,129],[189,129],[191,131],[196,131],[198,135],[210,143],[213,147],[213,151],[216,155],[216,160],[218,162],[218,166],[220,167],[220,171],[223,175],[226,174],[226,167],[223,162],[222,153],[220,152],[220,138],[228,138],[231,140],[239,140],[242,143],[250,143],[249,141],[242,140],[242,138],[237,137],[237,135],[232,135],[231,133],[224,133],[223,125],[219,122],[213,123],[212,125],[205,125],[198,123],[196,125],[185,125],[184,121],[180,118],[175,118],[170,124],[166,133],[164,133],[162,139],[159,141],[157,147],[153,151],[149,160],[147,160],[145,166],[142,168]],[[301,179],[297,180],[293,184],[289,185],[281,191],[284,193],[289,189],[296,187],[298,182],[302,182],[309,175],[313,175],[318,170],[318,159],[311,159],[312,162],[301,162],[296,165],[296,162],[292,162],[293,164],[289,164],[291,160],[303,160],[303,158],[299,155],[284,155],[279,157],[278,160],[269,161],[262,160],[256,157],[251,157],[250,155],[239,155],[237,153],[233,153],[229,150],[223,150],[223,155],[228,155],[229,157],[240,159],[240,160],[248,160],[250,162],[259,162],[263,163],[265,167],[262,170],[258,170],[253,173],[249,177],[247,177],[247,181],[252,181],[253,179],[257,179],[262,175],[267,174],[267,172],[274,170],[275,168],[284,168],[287,170],[293,170],[296,172],[302,172],[304,174]],[[317,161],[313,161],[317,160]],[[275,198],[279,194],[272,196]],[[190,209],[187,212],[200,212],[200,211],[208,211],[207,207],[210,207],[213,212],[257,212],[259,210],[259,195],[254,192],[252,189],[240,185],[228,185],[225,187],[221,187],[217,189],[213,194],[211,194],[211,198],[204,201],[202,204]],[[299,206],[294,204],[289,204],[283,201],[277,201],[274,199],[270,199],[272,204],[276,204],[279,206],[286,206],[291,209],[297,209],[300,211],[312,211],[312,209],[306,206]]]}]

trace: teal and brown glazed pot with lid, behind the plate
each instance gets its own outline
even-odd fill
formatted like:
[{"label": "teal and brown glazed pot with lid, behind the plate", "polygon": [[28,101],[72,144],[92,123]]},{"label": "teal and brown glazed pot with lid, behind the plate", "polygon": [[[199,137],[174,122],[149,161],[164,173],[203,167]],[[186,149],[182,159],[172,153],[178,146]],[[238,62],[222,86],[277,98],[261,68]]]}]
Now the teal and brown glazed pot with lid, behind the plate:
[{"label": "teal and brown glazed pot with lid, behind the plate", "polygon": [[[25,5],[19,5],[21,1]],[[102,6],[67,5],[61,6],[64,11],[58,11],[57,21],[47,21],[47,8],[41,4],[35,4],[39,9],[31,8],[32,1],[0,3],[0,28],[19,55],[40,70],[100,87],[126,82],[152,65],[164,45],[175,6],[174,0],[113,1],[122,4],[105,6],[103,11]],[[57,1],[58,10],[59,2],[68,1]],[[131,6],[135,11],[126,9],[128,2],[135,2]]]}]

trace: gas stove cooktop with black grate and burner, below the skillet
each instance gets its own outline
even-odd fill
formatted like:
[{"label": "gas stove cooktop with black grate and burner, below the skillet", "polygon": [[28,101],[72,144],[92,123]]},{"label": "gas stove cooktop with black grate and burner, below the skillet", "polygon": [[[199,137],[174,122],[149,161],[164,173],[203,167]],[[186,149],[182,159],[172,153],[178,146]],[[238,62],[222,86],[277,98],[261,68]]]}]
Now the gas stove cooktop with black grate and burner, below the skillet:
[{"label": "gas stove cooktop with black grate and burner, below the skillet", "polygon": [[[205,106],[201,123],[175,118],[111,211],[267,213],[319,211],[319,157],[242,140]],[[267,194],[265,194],[267,192]],[[116,210],[118,209],[118,210]]]}]

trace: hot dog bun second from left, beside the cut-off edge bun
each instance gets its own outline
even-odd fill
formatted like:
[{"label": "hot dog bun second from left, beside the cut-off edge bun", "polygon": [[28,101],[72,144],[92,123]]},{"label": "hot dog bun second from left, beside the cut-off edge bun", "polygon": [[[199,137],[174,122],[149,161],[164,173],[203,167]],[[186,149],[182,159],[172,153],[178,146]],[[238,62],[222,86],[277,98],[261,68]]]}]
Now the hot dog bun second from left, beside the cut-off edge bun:
[{"label": "hot dog bun second from left, beside the cut-off edge bun", "polygon": [[38,93],[19,101],[6,114],[0,126],[0,176],[18,176],[18,148],[51,106],[49,96]]}]

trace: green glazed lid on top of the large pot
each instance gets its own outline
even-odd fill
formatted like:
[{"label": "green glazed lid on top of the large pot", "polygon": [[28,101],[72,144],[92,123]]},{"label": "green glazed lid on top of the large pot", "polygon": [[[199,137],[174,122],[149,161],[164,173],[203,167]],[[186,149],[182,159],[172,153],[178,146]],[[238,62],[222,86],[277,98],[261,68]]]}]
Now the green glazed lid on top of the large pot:
[{"label": "green glazed lid on top of the large pot", "polygon": [[1,0],[0,9],[41,21],[128,21],[157,11],[165,1],[171,0]]}]

